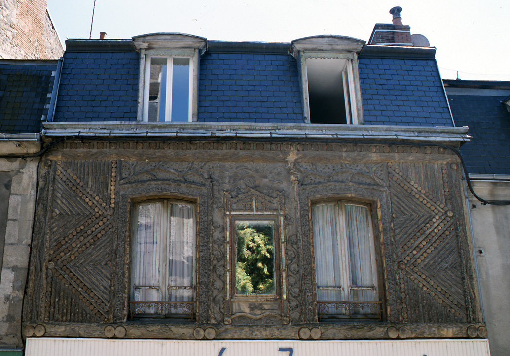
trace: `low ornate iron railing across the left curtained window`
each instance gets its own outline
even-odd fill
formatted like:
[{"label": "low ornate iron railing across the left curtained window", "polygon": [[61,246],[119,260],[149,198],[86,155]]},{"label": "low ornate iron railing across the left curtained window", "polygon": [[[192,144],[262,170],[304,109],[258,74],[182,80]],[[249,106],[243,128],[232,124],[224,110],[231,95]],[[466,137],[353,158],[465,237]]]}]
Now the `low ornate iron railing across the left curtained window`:
[{"label": "low ornate iron railing across the left curtained window", "polygon": [[195,317],[196,302],[151,302],[137,301],[129,302],[130,315],[158,315],[158,316],[189,316],[190,319]]}]

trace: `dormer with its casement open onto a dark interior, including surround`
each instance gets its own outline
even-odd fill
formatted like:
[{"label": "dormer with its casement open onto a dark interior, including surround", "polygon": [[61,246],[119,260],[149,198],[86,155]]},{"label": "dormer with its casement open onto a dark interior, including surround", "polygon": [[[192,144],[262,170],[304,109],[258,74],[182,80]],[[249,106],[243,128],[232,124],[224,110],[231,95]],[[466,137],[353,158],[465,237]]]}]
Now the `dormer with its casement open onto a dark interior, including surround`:
[{"label": "dormer with its casement open onto a dark interior, including surround", "polygon": [[310,123],[361,124],[358,52],[364,41],[342,36],[292,42],[303,88],[303,112]]}]

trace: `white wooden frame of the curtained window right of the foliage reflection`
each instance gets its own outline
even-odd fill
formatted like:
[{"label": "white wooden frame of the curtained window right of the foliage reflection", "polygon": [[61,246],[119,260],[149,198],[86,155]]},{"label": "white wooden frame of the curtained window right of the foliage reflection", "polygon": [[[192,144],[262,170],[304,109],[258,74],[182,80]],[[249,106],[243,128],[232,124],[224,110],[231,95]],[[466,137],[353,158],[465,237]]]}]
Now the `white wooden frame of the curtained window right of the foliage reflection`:
[{"label": "white wooden frame of the curtained window right of the foliage reflection", "polygon": [[[317,248],[315,246],[316,239],[314,236],[314,275],[316,278],[316,288],[317,292],[320,288],[323,289],[336,289],[340,290],[341,297],[339,300],[321,300],[317,297],[318,302],[352,302],[351,291],[352,290],[373,290],[374,291],[374,300],[367,300],[366,302],[378,302],[379,301],[379,288],[378,283],[380,276],[377,272],[377,258],[376,258],[376,249],[375,249],[375,240],[374,240],[374,232],[372,225],[372,214],[371,214],[371,206],[370,204],[360,203],[356,201],[348,201],[348,200],[336,200],[336,201],[323,201],[317,202],[313,204],[313,207],[320,205],[334,205],[335,206],[335,223],[336,223],[336,238],[338,244],[338,261],[336,264],[338,265],[338,269],[334,271],[333,282],[327,286],[319,286],[317,282]],[[370,263],[373,277],[373,285],[370,286],[359,286],[353,285],[351,282],[351,266],[350,266],[350,251],[349,251],[349,241],[347,238],[346,232],[346,213],[345,206],[346,205],[355,205],[367,208],[367,222],[368,222],[368,239],[370,243]],[[314,224],[314,212],[312,209],[312,224]],[[313,231],[315,231],[317,227],[313,226]],[[337,275],[338,273],[338,275]],[[335,285],[335,275],[340,277],[340,286]]]}]

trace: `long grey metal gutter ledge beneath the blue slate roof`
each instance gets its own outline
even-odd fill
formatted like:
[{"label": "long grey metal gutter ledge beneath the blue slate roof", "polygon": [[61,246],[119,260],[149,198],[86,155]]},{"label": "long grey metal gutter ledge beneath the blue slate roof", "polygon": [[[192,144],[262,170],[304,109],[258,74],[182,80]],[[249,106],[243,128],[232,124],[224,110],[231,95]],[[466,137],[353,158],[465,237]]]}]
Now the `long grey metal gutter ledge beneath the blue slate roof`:
[{"label": "long grey metal gutter ledge beneath the blue slate roof", "polygon": [[328,125],[305,123],[209,122],[46,122],[43,136],[133,138],[344,139],[442,143],[458,147],[469,141],[468,127]]}]

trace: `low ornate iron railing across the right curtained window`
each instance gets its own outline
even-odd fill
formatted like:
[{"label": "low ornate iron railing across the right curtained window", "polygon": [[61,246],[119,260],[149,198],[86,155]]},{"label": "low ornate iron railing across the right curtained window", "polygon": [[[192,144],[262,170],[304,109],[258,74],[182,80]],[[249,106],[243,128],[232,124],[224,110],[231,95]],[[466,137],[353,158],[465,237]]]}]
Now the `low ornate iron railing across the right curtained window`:
[{"label": "low ornate iron railing across the right curtained window", "polygon": [[317,302],[317,316],[381,319],[382,302]]}]

